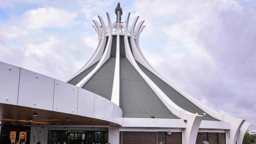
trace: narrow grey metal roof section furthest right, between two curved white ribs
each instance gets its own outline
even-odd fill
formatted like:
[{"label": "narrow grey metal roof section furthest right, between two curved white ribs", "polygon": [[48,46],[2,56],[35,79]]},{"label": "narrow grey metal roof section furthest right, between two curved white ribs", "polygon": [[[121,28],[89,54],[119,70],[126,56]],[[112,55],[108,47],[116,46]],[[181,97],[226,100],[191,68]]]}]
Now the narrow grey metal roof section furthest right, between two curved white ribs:
[{"label": "narrow grey metal roof section furthest right, between two curved white ribs", "polygon": [[[171,88],[169,85],[167,85],[164,81],[162,81],[160,78],[155,76],[152,72],[150,72],[147,68],[145,68],[143,65],[141,65],[139,62],[137,62],[141,70],[174,102],[176,105],[181,107],[182,109],[185,109],[186,111],[189,111],[191,113],[205,113],[201,109],[199,109],[195,104],[187,100],[184,96],[182,96],[180,93],[178,93],[176,90]],[[215,118],[209,116],[206,114],[203,117],[203,120],[216,120]]]}]

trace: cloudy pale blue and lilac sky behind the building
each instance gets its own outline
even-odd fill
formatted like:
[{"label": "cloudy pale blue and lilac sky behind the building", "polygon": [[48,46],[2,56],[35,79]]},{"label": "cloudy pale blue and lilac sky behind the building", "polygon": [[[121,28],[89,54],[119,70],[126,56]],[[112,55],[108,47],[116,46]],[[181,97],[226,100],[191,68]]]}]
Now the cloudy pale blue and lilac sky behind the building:
[{"label": "cloudy pale blue and lilac sky behind the building", "polygon": [[[0,0],[0,61],[65,80],[93,54],[92,20],[115,0]],[[120,0],[145,20],[140,47],[158,72],[256,129],[256,1]]]}]

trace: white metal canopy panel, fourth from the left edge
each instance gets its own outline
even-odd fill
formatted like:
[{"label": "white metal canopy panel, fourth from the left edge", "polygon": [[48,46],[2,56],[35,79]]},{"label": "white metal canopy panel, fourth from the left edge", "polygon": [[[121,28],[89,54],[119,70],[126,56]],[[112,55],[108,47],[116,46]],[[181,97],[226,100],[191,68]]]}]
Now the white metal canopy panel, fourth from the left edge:
[{"label": "white metal canopy panel, fourth from the left edge", "polygon": [[93,118],[94,93],[88,90],[78,89],[78,109],[77,114]]}]

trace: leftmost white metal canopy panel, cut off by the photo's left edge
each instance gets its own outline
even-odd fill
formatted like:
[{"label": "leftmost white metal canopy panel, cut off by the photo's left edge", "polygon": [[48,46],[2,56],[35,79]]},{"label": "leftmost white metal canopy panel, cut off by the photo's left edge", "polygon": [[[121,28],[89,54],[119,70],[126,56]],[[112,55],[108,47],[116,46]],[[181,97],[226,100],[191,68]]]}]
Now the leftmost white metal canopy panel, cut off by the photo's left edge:
[{"label": "leftmost white metal canopy panel, cut off by the photo's left edge", "polygon": [[20,67],[0,62],[0,103],[17,105]]}]

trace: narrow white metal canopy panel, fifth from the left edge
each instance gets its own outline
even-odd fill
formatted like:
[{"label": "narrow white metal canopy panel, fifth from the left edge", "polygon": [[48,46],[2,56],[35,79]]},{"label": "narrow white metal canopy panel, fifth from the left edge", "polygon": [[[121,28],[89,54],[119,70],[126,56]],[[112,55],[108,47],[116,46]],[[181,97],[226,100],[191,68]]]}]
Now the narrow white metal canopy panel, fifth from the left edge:
[{"label": "narrow white metal canopy panel, fifth from the left edge", "polygon": [[94,94],[94,118],[105,120],[106,98]]}]

